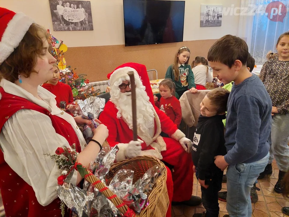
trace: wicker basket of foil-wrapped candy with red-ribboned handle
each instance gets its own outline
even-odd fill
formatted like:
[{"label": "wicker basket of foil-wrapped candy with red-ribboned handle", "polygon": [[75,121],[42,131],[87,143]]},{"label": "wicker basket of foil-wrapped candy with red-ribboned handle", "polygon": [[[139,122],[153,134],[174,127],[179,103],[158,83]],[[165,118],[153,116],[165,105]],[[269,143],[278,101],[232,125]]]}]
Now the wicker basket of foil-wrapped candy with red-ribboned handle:
[{"label": "wicker basket of foil-wrapped candy with red-ribboned handle", "polygon": [[[75,147],[59,147],[56,155],[48,155],[62,170],[58,197],[79,217],[165,216],[169,198],[163,163],[144,156],[113,164],[117,150],[105,146],[88,169],[76,162]],[[83,189],[69,183],[74,169],[85,178]]]}]

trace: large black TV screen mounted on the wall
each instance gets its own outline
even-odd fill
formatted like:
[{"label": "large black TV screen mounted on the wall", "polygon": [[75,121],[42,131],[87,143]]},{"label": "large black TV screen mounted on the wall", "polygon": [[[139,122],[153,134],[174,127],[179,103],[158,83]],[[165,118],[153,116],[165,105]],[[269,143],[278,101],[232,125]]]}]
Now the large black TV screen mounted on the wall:
[{"label": "large black TV screen mounted on the wall", "polygon": [[125,46],[182,42],[185,1],[123,0]]}]

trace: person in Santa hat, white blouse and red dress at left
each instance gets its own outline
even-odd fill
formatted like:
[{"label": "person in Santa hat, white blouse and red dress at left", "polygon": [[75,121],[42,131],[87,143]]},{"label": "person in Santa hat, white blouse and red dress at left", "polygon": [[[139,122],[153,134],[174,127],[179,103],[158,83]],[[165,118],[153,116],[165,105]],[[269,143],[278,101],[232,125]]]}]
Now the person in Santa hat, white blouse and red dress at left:
[{"label": "person in Santa hat, white blouse and red dress at left", "polygon": [[[77,162],[88,167],[108,130],[103,124],[92,129],[94,136],[86,144],[77,124],[91,121],[61,111],[55,96],[40,86],[52,78],[56,62],[46,29],[6,8],[0,8],[0,23],[0,190],[5,214],[62,216],[56,191],[61,170],[45,154],[75,146]],[[81,180],[75,170],[70,183]]]}]

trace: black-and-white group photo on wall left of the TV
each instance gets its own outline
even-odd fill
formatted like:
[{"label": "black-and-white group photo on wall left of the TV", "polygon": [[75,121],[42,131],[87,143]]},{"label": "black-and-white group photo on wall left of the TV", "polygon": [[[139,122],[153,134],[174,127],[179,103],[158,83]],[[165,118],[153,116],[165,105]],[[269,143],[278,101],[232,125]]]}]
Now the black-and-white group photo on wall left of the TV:
[{"label": "black-and-white group photo on wall left of the TV", "polygon": [[48,1],[54,31],[93,30],[90,1]]}]

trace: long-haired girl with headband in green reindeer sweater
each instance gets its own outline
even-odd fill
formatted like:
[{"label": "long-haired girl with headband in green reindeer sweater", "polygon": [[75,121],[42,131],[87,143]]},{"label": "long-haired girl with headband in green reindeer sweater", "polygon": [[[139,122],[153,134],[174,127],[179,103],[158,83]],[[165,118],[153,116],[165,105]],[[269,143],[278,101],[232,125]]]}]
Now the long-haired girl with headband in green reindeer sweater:
[{"label": "long-haired girl with headband in green reindeer sweater", "polygon": [[188,64],[191,51],[187,47],[181,47],[175,56],[175,61],[166,71],[165,78],[170,78],[176,85],[176,93],[179,97],[187,90],[197,93],[194,74]]}]

